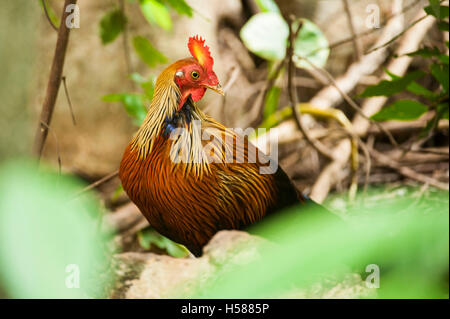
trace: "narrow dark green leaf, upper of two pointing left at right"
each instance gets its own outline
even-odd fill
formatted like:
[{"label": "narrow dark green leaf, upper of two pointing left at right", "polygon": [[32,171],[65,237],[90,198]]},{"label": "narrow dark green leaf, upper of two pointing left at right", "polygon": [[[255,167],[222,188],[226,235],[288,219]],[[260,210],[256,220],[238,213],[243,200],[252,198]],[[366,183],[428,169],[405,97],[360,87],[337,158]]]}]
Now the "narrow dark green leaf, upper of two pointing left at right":
[{"label": "narrow dark green leaf, upper of two pointing left at right", "polygon": [[424,75],[425,72],[414,71],[391,81],[383,80],[376,85],[367,87],[360,96],[391,96],[405,90],[411,82],[423,77]]}]

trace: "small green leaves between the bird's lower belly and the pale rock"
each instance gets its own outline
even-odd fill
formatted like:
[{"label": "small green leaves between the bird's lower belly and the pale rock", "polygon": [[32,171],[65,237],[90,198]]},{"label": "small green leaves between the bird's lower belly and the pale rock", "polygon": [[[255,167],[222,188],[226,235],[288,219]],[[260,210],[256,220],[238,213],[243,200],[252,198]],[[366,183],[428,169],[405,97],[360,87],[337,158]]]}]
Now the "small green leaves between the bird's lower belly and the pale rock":
[{"label": "small green leaves between the bird's lower belly and the pale rock", "polygon": [[183,258],[189,255],[189,251],[182,245],[179,245],[167,237],[157,233],[151,227],[148,227],[138,233],[139,244],[144,249],[150,249],[155,245],[159,249],[166,250],[172,257]]}]

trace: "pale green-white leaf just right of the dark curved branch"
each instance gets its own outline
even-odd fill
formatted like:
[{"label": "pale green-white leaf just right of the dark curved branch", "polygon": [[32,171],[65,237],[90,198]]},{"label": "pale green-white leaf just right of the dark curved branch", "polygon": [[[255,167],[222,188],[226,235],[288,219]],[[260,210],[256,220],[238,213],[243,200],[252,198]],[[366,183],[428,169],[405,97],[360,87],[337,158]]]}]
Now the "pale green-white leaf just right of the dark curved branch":
[{"label": "pale green-white leaf just right of the dark curved branch", "polygon": [[[328,40],[322,30],[313,22],[302,19],[303,26],[295,40],[294,62],[298,68],[310,69],[311,65],[297,57],[307,58],[315,66],[325,66],[330,54]],[[295,28],[295,26],[294,26]]]}]

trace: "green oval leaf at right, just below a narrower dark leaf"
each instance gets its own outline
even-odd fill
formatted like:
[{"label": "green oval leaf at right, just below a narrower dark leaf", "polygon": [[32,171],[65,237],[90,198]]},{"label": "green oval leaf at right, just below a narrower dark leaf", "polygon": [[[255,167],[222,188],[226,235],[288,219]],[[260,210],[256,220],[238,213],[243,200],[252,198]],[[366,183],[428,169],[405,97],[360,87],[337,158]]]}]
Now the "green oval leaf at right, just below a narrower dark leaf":
[{"label": "green oval leaf at right, just below a narrower dark leaf", "polygon": [[428,111],[426,105],[412,100],[398,100],[372,115],[375,121],[409,121],[419,118]]}]

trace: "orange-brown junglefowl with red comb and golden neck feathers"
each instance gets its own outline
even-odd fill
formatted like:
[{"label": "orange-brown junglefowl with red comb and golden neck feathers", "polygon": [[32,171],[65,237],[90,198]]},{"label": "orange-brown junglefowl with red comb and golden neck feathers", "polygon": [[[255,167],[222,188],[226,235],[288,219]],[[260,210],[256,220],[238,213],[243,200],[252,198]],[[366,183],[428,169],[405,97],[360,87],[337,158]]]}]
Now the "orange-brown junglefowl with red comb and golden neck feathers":
[{"label": "orange-brown junglefowl with red comb and golden neck feathers", "polygon": [[309,200],[281,168],[267,169],[267,156],[246,136],[198,108],[206,89],[222,95],[223,90],[205,41],[191,37],[188,48],[192,57],[169,65],[157,78],[119,176],[154,229],[200,256],[216,232],[246,228]]}]

